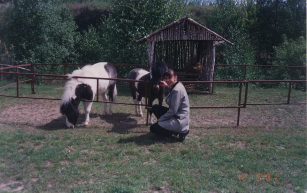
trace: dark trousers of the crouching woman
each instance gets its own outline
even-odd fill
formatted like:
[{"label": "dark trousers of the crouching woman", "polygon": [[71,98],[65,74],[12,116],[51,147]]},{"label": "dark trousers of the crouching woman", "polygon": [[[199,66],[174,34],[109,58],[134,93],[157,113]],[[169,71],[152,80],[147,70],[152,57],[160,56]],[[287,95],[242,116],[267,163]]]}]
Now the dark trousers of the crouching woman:
[{"label": "dark trousers of the crouching woman", "polygon": [[[164,107],[162,105],[153,105],[152,107],[152,112],[153,112],[153,115],[156,117],[156,119],[160,119],[160,117],[162,115],[164,115],[167,111],[168,111],[169,108],[167,107]],[[176,132],[174,131],[170,131],[170,130],[167,130],[165,128],[162,128],[161,126],[158,125],[158,122],[153,124],[151,127],[150,127],[150,130],[152,133],[155,133],[155,134],[161,134],[161,135],[172,135],[172,134],[177,134]]]}]

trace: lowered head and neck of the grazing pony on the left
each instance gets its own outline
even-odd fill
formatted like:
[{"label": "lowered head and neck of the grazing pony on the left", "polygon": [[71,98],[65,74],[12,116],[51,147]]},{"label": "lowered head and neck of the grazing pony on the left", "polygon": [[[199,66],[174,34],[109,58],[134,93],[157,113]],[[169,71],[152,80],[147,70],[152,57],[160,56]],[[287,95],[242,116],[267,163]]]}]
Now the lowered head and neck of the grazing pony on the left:
[{"label": "lowered head and neck of the grazing pony on the left", "polygon": [[65,91],[60,103],[60,112],[66,116],[67,128],[76,126],[79,111],[78,106],[81,99],[93,100],[93,91],[90,85],[78,82],[71,78],[65,85]]}]

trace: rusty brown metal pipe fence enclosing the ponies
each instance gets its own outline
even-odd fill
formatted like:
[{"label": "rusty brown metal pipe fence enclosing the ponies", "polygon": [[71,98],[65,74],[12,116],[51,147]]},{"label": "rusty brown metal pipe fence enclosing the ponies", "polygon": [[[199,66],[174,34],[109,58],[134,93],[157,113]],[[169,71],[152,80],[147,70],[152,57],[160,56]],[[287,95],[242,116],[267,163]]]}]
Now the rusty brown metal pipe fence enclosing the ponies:
[{"label": "rusty brown metal pipe fence enclosing the ponies", "polygon": [[[44,79],[44,78],[36,78],[36,77],[55,77],[53,79],[56,80],[65,80],[67,78],[66,75],[59,75],[59,74],[37,74],[34,73],[34,65],[46,65],[46,64],[23,64],[23,65],[16,65],[16,66],[8,66],[8,67],[2,67],[0,68],[0,73],[1,74],[12,74],[16,76],[16,82],[8,85],[1,86],[1,88],[5,88],[8,86],[16,85],[16,96],[13,95],[4,95],[0,94],[0,96],[3,97],[14,97],[14,98],[27,98],[27,99],[45,99],[45,100],[61,100],[59,98],[45,98],[45,97],[25,97],[25,96],[19,96],[19,84],[23,82],[31,82],[31,93],[35,93],[35,81],[37,80],[51,80],[51,79]],[[63,65],[64,66],[64,74],[66,74],[66,66],[67,65],[83,65],[83,64],[48,64],[48,65]],[[143,66],[145,68],[148,68],[147,65],[142,65],[142,64],[114,64],[115,66],[117,65],[130,65],[130,66]],[[30,68],[30,73],[23,73],[19,72],[18,69],[21,67],[26,67],[28,66]],[[239,96],[238,96],[238,105],[237,106],[192,106],[190,109],[238,109],[238,116],[237,116],[237,126],[239,126],[240,123],[240,111],[242,108],[247,108],[248,105],[306,105],[307,102],[302,102],[302,103],[292,103],[290,102],[291,98],[291,85],[293,82],[303,82],[306,83],[307,80],[246,80],[246,72],[247,72],[247,67],[248,66],[260,66],[260,67],[267,67],[267,66],[262,66],[262,65],[240,65],[240,64],[217,64],[216,67],[218,66],[242,66],[245,68],[244,72],[244,79],[243,80],[214,80],[213,81],[183,81],[183,84],[217,84],[217,83],[231,83],[231,84],[239,84]],[[269,66],[273,67],[273,66]],[[293,68],[305,68],[306,67],[301,67],[301,66],[276,66],[276,67],[290,67],[291,69]],[[9,72],[9,71],[4,71],[8,69],[15,69],[15,72]],[[20,81],[19,76],[30,76],[29,79],[25,79]],[[293,70],[292,70],[292,75],[291,77],[293,78]],[[97,80],[97,98],[96,100],[93,100],[92,102],[101,102],[101,103],[114,103],[114,104],[120,104],[120,105],[136,105],[132,103],[122,103],[122,102],[110,102],[110,101],[100,101],[99,100],[99,89],[98,89],[98,81],[100,79],[107,79],[107,80],[116,80],[116,81],[126,81],[126,82],[145,82],[142,80],[129,80],[129,79],[122,79],[122,78],[99,78],[99,77],[84,77],[84,76],[75,76],[74,78],[89,78],[89,79],[96,79]],[[214,78],[214,76],[213,76]],[[288,82],[289,83],[289,91],[288,91],[288,98],[286,103],[248,103],[247,102],[247,97],[248,97],[248,90],[249,90],[249,83],[256,83],[256,82]],[[242,91],[243,85],[245,85],[245,90]],[[146,85],[146,90],[148,89],[148,85]],[[242,93],[244,92],[244,102],[242,103]],[[146,92],[147,93],[147,92]],[[213,93],[213,87],[212,87],[212,93]],[[89,101],[89,100],[88,100]],[[147,122],[146,125],[148,125],[149,122],[149,110],[151,107],[148,106],[148,96],[145,97],[145,104],[142,106],[145,106],[147,110]]]}]

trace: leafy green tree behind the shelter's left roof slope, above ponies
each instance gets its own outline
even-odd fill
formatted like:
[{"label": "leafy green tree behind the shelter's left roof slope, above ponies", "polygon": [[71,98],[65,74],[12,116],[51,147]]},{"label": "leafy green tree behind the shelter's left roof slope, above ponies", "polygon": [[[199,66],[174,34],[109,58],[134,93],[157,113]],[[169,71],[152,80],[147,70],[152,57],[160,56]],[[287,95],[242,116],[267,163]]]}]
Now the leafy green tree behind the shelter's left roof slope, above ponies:
[{"label": "leafy green tree behind the shelter's left roof slope, above ponies", "polygon": [[[102,22],[103,60],[146,64],[147,45],[136,41],[180,17],[183,0],[111,0],[112,11]],[[123,75],[128,74],[122,69]]]}]

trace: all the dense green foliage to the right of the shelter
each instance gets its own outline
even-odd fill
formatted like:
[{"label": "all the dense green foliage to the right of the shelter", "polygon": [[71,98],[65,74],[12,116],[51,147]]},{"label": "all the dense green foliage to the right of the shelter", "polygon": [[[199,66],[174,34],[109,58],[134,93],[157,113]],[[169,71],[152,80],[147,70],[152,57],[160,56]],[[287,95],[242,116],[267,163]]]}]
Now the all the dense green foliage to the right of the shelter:
[{"label": "all the dense green foliage to the right of the shelter", "polygon": [[[192,2],[194,2],[193,7],[197,7],[191,8],[194,13],[192,16],[196,20],[204,21],[206,18],[206,26],[209,29],[235,44],[217,46],[217,64],[306,66],[305,1],[192,0]],[[193,12],[194,9],[197,11]],[[285,42],[287,39],[291,41]],[[244,68],[241,66],[219,67],[215,71],[216,77],[220,79],[242,79],[243,73]],[[267,67],[250,67],[247,71],[247,79],[290,79],[290,76],[291,69],[285,67],[274,70]],[[306,70],[294,70],[294,79],[306,79]],[[296,89],[305,87],[306,90],[306,84],[295,85]]]}]

